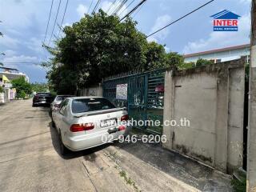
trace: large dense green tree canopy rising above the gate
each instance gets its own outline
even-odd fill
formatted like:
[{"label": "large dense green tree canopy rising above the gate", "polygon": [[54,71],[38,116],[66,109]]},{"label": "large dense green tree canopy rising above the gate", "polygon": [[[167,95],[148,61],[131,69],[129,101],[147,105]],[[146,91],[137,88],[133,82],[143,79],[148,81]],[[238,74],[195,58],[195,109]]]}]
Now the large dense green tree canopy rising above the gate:
[{"label": "large dense green tree canopy rising above the gate", "polygon": [[102,10],[86,14],[79,22],[66,26],[64,38],[46,49],[53,57],[42,66],[48,67],[50,89],[58,94],[101,82],[103,78],[128,71],[154,70],[183,62],[177,53],[166,54],[164,46],[147,42],[136,29],[137,22]]}]

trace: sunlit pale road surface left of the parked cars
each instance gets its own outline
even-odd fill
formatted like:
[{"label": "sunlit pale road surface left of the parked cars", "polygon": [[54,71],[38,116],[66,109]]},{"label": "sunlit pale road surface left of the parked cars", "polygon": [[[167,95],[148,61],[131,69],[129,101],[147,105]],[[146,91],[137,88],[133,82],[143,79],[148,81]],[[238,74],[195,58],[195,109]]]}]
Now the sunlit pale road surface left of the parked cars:
[{"label": "sunlit pale road surface left of the parked cars", "polygon": [[82,159],[62,158],[49,108],[31,100],[0,106],[0,191],[97,191]]}]

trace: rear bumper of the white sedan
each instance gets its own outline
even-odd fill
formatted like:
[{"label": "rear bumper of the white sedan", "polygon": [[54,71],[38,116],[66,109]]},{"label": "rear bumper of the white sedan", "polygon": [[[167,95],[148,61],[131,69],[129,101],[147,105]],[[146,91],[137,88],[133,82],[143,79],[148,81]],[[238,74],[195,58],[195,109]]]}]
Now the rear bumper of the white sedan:
[{"label": "rear bumper of the white sedan", "polygon": [[121,135],[129,134],[131,127],[127,126],[125,130],[117,131],[113,134],[109,134],[107,130],[102,130],[97,133],[85,134],[82,136],[67,136],[64,145],[73,151],[86,150],[94,146],[101,146],[107,142],[118,139]]}]

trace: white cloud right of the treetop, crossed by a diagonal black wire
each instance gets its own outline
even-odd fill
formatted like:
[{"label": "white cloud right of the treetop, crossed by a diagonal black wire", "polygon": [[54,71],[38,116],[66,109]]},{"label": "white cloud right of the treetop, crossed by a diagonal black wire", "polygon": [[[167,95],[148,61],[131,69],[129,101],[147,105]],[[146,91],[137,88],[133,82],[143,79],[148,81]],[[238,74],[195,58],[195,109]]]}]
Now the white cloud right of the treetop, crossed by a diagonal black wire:
[{"label": "white cloud right of the treetop, crossed by a diagonal black wire", "polygon": [[[169,14],[165,14],[162,16],[159,16],[156,21],[154,22],[154,26],[150,30],[150,34],[153,33],[156,30],[161,29],[163,26],[166,26],[170,23],[171,17]],[[149,42],[158,42],[158,40],[164,40],[169,34],[168,28],[159,31],[157,34],[154,34],[150,38],[148,38]]]}]

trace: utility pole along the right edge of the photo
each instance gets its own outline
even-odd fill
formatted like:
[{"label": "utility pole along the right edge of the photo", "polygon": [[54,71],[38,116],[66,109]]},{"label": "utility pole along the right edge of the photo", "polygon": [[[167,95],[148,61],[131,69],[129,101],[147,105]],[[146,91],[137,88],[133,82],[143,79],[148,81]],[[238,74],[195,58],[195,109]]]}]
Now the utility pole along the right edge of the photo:
[{"label": "utility pole along the right edge of the photo", "polygon": [[246,191],[256,192],[256,0],[251,2],[250,80]]}]

